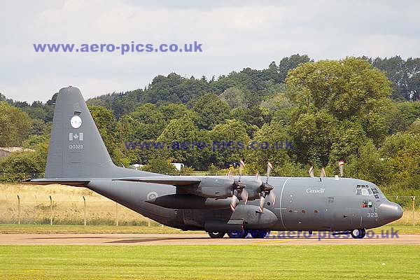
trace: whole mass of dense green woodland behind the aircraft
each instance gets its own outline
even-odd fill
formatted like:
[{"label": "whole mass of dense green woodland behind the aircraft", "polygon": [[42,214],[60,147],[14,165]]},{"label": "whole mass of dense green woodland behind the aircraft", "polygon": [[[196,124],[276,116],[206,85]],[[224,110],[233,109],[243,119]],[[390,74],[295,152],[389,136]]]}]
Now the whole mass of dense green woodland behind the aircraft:
[{"label": "whole mass of dense green woodland behind the aircraft", "polygon": [[[246,172],[306,176],[314,165],[379,184],[387,193],[420,190],[420,59],[355,58],[314,62],[292,55],[267,69],[246,68],[218,78],[157,76],[144,89],[89,99],[92,116],[116,165],[146,165],[172,173],[170,162],[220,173],[240,158]],[[46,104],[0,102],[0,146],[48,145],[56,94]],[[29,118],[29,117],[30,118]],[[137,141],[292,142],[293,149],[160,150]],[[13,158],[14,157],[14,158]],[[27,158],[27,162],[25,162]],[[22,162],[8,165],[8,162]],[[34,155],[0,161],[3,172],[43,172]],[[25,163],[24,163],[25,162]],[[210,170],[209,170],[210,169]],[[188,169],[190,170],[190,169]],[[219,171],[218,171],[219,170]],[[222,171],[223,172],[223,171]]]}]

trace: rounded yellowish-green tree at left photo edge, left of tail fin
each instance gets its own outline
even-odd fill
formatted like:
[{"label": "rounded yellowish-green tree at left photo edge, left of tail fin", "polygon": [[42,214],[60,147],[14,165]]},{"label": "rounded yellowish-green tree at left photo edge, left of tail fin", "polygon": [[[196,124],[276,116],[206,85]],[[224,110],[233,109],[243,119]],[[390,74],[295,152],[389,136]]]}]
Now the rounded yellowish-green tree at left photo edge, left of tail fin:
[{"label": "rounded yellowish-green tree at left photo edge, left of tail fin", "polygon": [[0,146],[20,146],[31,132],[31,119],[27,113],[0,102]]}]

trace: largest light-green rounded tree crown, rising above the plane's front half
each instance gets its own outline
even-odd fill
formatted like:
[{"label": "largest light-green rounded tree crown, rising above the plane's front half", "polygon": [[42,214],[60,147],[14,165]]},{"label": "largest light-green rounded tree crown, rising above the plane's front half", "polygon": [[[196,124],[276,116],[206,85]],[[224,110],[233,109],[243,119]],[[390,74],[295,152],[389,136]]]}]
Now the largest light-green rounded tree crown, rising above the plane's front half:
[{"label": "largest light-green rounded tree crown, rising above the plane's front half", "polygon": [[386,136],[391,83],[364,59],[302,64],[289,72],[286,84],[288,97],[297,105],[295,118],[324,110],[339,121],[356,117],[375,144]]}]

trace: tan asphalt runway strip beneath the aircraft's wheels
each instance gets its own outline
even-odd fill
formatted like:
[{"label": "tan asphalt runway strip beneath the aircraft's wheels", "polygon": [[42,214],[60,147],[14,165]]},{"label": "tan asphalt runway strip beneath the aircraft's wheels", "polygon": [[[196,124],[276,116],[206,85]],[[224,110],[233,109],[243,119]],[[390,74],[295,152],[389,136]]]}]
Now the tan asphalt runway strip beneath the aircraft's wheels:
[{"label": "tan asphalt runway strip beneath the aircraft's wheels", "polygon": [[211,239],[205,234],[1,234],[0,245],[420,245],[420,235],[353,239],[347,236],[271,235],[265,239]]}]

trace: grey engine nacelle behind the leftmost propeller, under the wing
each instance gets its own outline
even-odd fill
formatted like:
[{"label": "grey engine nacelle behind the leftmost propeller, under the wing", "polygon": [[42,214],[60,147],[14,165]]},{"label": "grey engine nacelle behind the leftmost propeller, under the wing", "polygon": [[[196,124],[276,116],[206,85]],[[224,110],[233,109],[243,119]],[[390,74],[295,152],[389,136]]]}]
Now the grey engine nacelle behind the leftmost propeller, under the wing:
[{"label": "grey engine nacelle behind the leftmost propeller, under the wing", "polygon": [[204,178],[194,188],[183,188],[183,192],[190,195],[198,195],[200,197],[210,198],[226,198],[232,197],[231,179],[223,178]]}]

